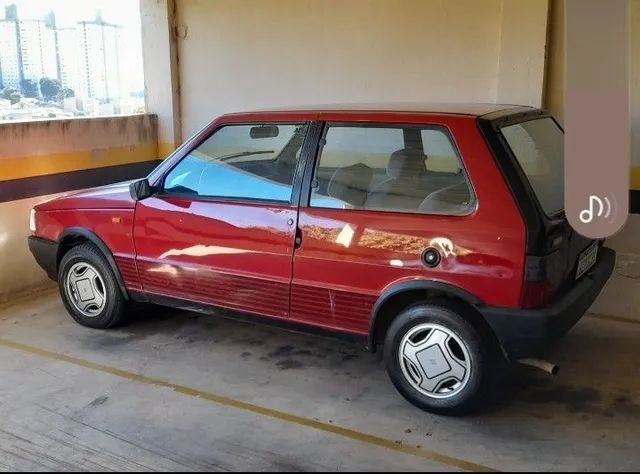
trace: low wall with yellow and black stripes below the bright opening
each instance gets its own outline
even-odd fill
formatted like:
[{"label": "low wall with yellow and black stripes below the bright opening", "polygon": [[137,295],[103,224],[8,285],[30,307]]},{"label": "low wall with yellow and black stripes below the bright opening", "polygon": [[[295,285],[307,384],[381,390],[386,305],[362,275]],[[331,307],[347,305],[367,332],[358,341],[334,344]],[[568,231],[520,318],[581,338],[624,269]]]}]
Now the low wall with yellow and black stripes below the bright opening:
[{"label": "low wall with yellow and black stripes below the bright opening", "polygon": [[146,174],[157,158],[153,116],[0,124],[0,303],[50,285],[27,247],[31,207]]}]

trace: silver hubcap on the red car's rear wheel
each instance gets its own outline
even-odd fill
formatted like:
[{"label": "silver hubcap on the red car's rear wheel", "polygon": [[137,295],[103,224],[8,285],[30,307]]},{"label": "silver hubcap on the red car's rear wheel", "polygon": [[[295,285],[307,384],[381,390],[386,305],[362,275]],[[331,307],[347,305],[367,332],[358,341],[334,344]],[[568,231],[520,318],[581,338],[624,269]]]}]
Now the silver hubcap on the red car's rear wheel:
[{"label": "silver hubcap on the red car's rear wheel", "polygon": [[398,360],[404,378],[431,398],[449,398],[469,382],[471,358],[462,340],[450,329],[425,323],[411,328],[400,341]]}]

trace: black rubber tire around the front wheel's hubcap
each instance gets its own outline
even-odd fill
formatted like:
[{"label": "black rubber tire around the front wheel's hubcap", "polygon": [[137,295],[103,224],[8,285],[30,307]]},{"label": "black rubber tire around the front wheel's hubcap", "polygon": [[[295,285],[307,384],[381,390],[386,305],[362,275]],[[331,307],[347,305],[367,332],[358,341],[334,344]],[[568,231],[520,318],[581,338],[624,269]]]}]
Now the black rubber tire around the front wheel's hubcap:
[{"label": "black rubber tire around the front wheel's hubcap", "polygon": [[[88,264],[100,277],[100,290],[105,302],[95,314],[87,316],[78,309],[74,296],[66,288],[69,271],[76,264]],[[86,243],[71,248],[63,257],[58,267],[58,287],[67,311],[73,319],[83,326],[95,329],[107,329],[120,324],[126,315],[126,300],[118,285],[113,270],[102,252],[93,244]]]}]

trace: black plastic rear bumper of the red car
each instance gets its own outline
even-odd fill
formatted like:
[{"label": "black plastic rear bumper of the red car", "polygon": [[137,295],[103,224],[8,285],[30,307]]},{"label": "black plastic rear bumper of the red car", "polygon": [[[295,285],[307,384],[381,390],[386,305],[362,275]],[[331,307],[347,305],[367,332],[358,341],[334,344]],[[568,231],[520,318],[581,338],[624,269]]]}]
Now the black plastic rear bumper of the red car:
[{"label": "black plastic rear bumper of the red car", "polygon": [[558,300],[536,309],[479,308],[510,359],[536,355],[565,334],[587,312],[615,266],[616,253],[599,250],[598,261]]}]

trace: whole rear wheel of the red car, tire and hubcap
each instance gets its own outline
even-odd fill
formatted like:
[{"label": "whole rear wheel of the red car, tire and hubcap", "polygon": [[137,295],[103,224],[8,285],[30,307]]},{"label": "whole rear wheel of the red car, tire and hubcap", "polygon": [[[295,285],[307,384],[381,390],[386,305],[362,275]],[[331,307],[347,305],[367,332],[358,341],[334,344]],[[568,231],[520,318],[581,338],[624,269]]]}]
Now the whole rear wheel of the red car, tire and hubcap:
[{"label": "whole rear wheel of the red car, tire and hubcap", "polygon": [[499,359],[494,342],[473,320],[464,306],[442,300],[413,305],[393,321],[385,364],[409,402],[434,413],[461,414],[485,398],[497,368],[492,363]]}]

